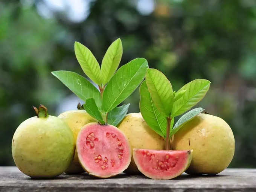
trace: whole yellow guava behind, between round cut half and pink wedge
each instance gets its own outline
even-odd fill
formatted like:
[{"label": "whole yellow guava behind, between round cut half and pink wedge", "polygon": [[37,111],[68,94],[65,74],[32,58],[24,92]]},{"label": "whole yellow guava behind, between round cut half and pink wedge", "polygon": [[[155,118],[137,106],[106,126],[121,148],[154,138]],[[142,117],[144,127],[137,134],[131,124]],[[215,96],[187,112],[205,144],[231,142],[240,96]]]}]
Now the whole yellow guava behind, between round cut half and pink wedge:
[{"label": "whole yellow guava behind, between round cut half and pink wedge", "polygon": [[[141,113],[130,113],[125,116],[118,126],[128,138],[131,148],[159,149],[165,148],[165,140],[153,131],[143,119]],[[128,174],[140,174],[134,163],[133,155],[129,167],[125,170]]]}]

